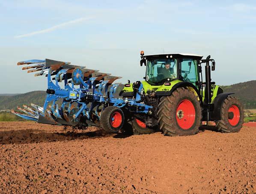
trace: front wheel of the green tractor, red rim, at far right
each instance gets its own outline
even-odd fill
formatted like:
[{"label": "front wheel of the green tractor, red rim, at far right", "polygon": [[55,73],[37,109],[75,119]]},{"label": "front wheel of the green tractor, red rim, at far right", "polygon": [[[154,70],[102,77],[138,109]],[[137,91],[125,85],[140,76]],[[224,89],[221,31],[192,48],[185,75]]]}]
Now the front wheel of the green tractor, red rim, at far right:
[{"label": "front wheel of the green tractor, red rim, at far right", "polygon": [[221,120],[216,127],[221,132],[239,132],[244,123],[242,103],[235,97],[226,97],[221,107]]}]

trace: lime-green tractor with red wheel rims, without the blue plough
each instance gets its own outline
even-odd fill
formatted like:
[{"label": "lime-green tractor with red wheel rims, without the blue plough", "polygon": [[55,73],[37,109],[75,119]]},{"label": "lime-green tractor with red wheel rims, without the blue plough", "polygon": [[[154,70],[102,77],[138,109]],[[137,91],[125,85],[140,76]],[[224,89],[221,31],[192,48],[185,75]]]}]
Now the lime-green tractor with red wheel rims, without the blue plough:
[{"label": "lime-green tractor with red wheel rims, without the blue plough", "polygon": [[144,56],[143,51],[140,55],[140,66],[146,66],[145,81],[131,84],[128,80],[119,94],[153,107],[146,114],[126,112],[126,121],[134,134],[149,134],[160,129],[164,135],[194,135],[204,121],[214,121],[220,132],[240,131],[243,106],[230,96],[234,93],[223,93],[223,89],[211,81],[214,59],[193,54]]}]

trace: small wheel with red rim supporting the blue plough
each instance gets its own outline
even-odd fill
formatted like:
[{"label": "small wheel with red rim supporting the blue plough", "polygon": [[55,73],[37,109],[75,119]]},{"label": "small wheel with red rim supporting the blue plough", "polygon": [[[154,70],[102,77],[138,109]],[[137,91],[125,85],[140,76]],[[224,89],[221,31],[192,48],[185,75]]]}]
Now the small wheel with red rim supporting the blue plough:
[{"label": "small wheel with red rim supporting the blue plough", "polygon": [[124,113],[115,106],[108,106],[101,113],[101,127],[109,133],[118,133],[124,124]]}]

